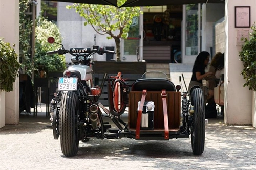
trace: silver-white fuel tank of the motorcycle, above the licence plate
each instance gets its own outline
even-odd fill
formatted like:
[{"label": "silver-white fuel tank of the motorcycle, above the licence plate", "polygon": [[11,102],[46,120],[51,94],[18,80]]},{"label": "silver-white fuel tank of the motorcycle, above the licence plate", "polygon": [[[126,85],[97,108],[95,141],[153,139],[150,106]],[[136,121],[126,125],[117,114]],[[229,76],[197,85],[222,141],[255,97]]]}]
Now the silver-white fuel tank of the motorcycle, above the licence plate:
[{"label": "silver-white fuel tank of the motorcycle, above the licence plate", "polygon": [[79,71],[81,74],[81,80],[90,80],[93,78],[92,69],[87,65],[72,65],[68,68],[69,71]]}]

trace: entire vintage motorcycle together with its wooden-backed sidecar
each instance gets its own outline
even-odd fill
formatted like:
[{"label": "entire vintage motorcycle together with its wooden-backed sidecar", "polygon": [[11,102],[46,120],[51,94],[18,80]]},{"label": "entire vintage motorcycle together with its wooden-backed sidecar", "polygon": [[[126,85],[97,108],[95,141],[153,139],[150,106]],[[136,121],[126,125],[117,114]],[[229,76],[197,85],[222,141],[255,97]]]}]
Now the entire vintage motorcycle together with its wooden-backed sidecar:
[{"label": "entire vintage motorcycle together with its wooden-backed sidecar", "polygon": [[[53,37],[48,42],[56,43]],[[203,153],[205,105],[199,86],[181,93],[181,86],[175,86],[160,71],[146,72],[129,86],[118,72],[116,76],[108,76],[109,106],[105,107],[99,102],[101,88],[92,83],[90,56],[114,52],[96,45],[69,50],[62,45],[47,52],[48,55],[66,53],[73,56],[72,63],[58,80],[58,92],[50,102],[51,125],[48,125],[53,129],[54,139],[60,138],[65,156],[75,156],[79,141],[89,142],[90,138],[168,141],[191,137],[193,154]],[[127,122],[121,118],[126,108]],[[104,122],[103,117],[109,118],[118,129]]]}]

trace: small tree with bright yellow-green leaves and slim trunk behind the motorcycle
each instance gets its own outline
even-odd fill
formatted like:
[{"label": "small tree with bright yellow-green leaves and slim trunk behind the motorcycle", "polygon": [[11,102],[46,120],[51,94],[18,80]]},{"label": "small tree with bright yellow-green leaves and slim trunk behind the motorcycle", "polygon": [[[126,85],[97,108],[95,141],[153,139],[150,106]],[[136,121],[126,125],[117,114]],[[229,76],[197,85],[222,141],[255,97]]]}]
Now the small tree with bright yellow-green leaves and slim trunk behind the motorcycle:
[{"label": "small tree with bright yellow-green leaves and slim trunk behind the motorcycle", "polygon": [[[118,5],[122,5],[124,2],[125,0],[117,1]],[[76,9],[76,12],[85,19],[84,25],[89,23],[98,34],[109,34],[107,38],[113,38],[116,43],[117,61],[121,61],[120,39],[127,38],[129,24],[132,23],[134,16],[139,16],[140,7],[118,8],[105,5],[74,4],[67,8]]]}]

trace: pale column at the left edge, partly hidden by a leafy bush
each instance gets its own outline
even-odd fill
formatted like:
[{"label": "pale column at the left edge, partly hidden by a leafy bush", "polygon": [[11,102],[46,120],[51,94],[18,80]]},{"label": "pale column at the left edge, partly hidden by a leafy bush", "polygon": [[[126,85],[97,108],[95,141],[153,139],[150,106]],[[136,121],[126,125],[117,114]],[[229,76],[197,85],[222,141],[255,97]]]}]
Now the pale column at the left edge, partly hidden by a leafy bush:
[{"label": "pale column at the left edge, partly hidden by a leafy bush", "polygon": [[[0,0],[0,37],[11,45],[15,44],[15,51],[19,54],[18,0]],[[5,124],[19,123],[19,78],[13,83],[13,91],[5,93],[5,113],[2,110],[0,113],[5,114]]]}]

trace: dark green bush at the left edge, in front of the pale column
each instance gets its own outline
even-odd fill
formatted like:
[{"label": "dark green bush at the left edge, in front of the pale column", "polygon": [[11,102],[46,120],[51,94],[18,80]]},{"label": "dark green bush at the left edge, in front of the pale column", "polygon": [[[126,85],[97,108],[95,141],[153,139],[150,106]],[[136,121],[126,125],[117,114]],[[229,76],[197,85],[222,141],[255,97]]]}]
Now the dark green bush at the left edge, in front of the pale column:
[{"label": "dark green bush at the left edge, in front of the pale column", "polygon": [[3,38],[0,38],[0,90],[6,92],[13,90],[13,82],[18,77],[20,68],[17,61],[18,55],[13,47],[10,46],[10,43],[5,43]]}]

